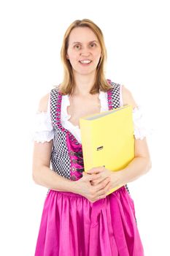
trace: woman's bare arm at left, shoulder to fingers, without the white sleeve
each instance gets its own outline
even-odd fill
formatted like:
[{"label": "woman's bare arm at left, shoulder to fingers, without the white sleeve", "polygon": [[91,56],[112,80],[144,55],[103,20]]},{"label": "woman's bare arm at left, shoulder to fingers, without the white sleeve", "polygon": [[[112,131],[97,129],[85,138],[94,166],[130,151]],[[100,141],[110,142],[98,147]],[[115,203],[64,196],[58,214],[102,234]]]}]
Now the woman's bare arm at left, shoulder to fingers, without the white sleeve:
[{"label": "woman's bare arm at left, shoulder to fingers, without the white sleeve", "polygon": [[[40,100],[38,112],[47,112],[48,97],[49,94]],[[103,196],[107,196],[106,192],[110,185],[109,179],[106,179],[96,188],[90,184],[90,181],[98,178],[100,174],[98,176],[96,174],[84,175],[78,181],[70,181],[68,178],[64,178],[55,173],[54,170],[51,170],[50,156],[52,148],[53,140],[45,143],[34,142],[32,177],[36,184],[57,191],[74,192],[87,197],[91,201],[96,200],[96,197],[98,197],[98,190],[100,195],[104,193]]]}]

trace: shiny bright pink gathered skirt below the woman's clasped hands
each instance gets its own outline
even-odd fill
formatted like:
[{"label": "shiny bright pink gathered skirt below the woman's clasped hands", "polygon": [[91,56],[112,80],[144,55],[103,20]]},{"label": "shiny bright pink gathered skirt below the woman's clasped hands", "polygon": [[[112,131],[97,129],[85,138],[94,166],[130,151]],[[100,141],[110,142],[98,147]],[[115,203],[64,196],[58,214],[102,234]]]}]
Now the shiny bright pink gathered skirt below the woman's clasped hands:
[{"label": "shiny bright pink gathered skirt below the woman's clasped hands", "polygon": [[125,187],[90,203],[50,190],[45,199],[35,256],[143,256],[134,201]]}]

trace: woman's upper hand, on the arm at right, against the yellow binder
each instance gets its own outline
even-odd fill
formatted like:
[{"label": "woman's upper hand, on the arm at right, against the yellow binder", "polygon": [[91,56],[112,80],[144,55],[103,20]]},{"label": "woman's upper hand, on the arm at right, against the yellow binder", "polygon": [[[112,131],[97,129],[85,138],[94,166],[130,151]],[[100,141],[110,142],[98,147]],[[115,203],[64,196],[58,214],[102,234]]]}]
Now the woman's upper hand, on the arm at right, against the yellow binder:
[{"label": "woman's upper hand, on the arm at right, against the yellow binder", "polygon": [[96,179],[95,181],[91,181],[91,184],[93,186],[96,186],[99,184],[101,181],[103,181],[105,178],[110,178],[111,185],[110,189],[117,187],[120,185],[120,171],[112,171],[104,166],[100,167],[93,167],[92,169],[87,171],[88,174],[93,174],[93,173],[101,173],[101,178]]}]

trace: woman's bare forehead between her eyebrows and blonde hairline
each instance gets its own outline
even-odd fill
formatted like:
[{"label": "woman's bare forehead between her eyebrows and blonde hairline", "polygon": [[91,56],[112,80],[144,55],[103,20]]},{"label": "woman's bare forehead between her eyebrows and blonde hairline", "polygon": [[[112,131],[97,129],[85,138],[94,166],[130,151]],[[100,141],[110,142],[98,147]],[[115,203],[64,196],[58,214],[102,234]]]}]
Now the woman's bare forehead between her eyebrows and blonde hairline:
[{"label": "woman's bare forehead between her eyebrows and blonde hairline", "polygon": [[69,42],[90,42],[96,40],[98,41],[98,38],[96,37],[96,34],[88,28],[88,27],[78,27],[74,28],[71,33],[69,34]]}]

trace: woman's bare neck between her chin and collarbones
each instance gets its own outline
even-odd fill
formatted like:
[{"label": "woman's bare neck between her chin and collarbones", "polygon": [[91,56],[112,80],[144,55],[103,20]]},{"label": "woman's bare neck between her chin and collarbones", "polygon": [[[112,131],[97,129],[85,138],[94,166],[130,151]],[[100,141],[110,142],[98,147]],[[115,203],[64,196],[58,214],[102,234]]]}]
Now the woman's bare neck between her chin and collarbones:
[{"label": "woman's bare neck between her chin and collarbones", "polygon": [[90,89],[92,89],[95,82],[96,72],[88,75],[74,74],[75,88],[73,91],[74,96],[86,97],[90,95]]}]

